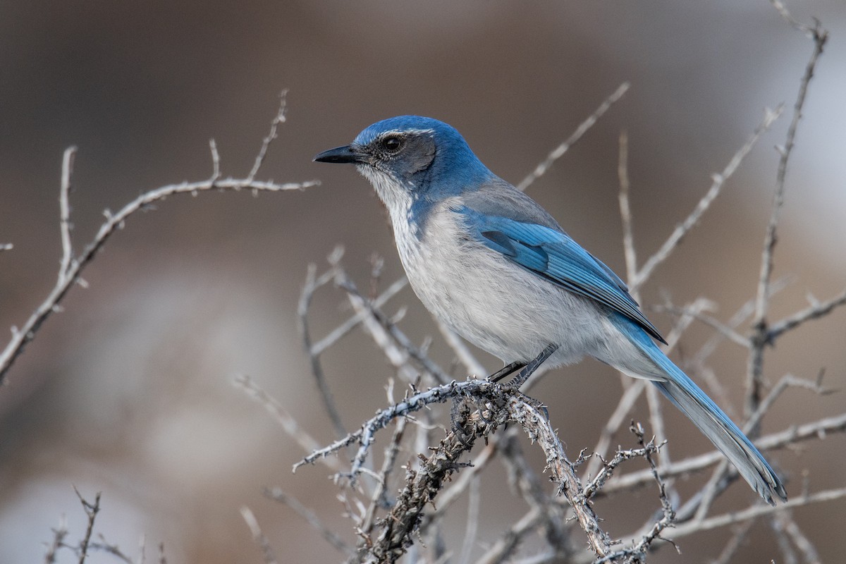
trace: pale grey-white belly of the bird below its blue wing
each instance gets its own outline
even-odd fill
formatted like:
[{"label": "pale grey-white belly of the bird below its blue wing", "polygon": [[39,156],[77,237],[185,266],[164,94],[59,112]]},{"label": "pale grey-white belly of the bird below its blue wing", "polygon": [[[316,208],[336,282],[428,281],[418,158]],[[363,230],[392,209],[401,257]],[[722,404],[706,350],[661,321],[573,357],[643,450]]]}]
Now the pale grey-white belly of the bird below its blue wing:
[{"label": "pale grey-white belly of the bird below its blue wing", "polygon": [[506,363],[526,362],[554,343],[548,362],[570,364],[607,334],[590,300],[473,240],[448,239],[455,243],[400,247],[400,256],[426,308],[479,348]]}]

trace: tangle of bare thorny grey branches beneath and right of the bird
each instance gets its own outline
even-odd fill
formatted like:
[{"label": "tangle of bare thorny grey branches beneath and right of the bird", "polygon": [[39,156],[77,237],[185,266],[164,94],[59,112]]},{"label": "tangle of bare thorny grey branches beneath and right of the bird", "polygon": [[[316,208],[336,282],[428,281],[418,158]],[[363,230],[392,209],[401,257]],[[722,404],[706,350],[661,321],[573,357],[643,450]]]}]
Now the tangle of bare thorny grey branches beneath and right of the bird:
[{"label": "tangle of bare thorny grey branches beneath and right of the bird", "polygon": [[[684,330],[695,321],[705,323],[715,331],[714,337],[711,337],[700,352],[695,355],[697,367],[704,367],[706,359],[720,342],[728,341],[738,344],[754,356],[756,351],[762,353],[765,346],[771,345],[784,333],[792,331],[810,320],[828,315],[834,309],[846,304],[846,292],[844,292],[823,302],[811,300],[808,308],[788,315],[783,320],[763,326],[760,323],[760,320],[763,319],[761,312],[763,311],[766,314],[768,300],[786,285],[784,279],[771,280],[772,249],[778,218],[777,209],[782,205],[784,170],[786,170],[789,157],[789,148],[792,148],[793,145],[795,126],[804,104],[810,76],[813,74],[816,61],[827,37],[825,30],[822,30],[818,24],[801,27],[800,29],[805,30],[814,39],[815,51],[802,79],[798,100],[794,104],[794,120],[788,130],[788,141],[784,145],[786,149],[781,151],[777,175],[777,194],[782,195],[777,195],[773,206],[772,217],[774,219],[771,220],[771,226],[767,228],[762,255],[762,272],[766,270],[767,273],[766,276],[762,274],[760,277],[762,282],[759,284],[759,292],[755,299],[750,300],[749,304],[739,309],[726,322],[711,314],[712,304],[704,298],[696,300],[694,304],[684,308],[677,308],[669,303],[662,306],[662,309],[667,313],[678,316],[677,326],[674,327],[670,335],[671,347],[675,342],[678,342]],[[585,134],[590,129],[591,124],[624,94],[627,87],[628,85],[623,85],[612,96],[609,96],[597,112],[586,120],[570,136],[569,140],[560,145],[556,151],[553,151],[547,161],[541,163],[536,171],[527,177],[524,183],[521,183],[520,187],[525,188],[526,185],[545,172],[556,158],[567,151],[574,140],[578,140],[582,134]],[[778,106],[774,111],[767,110],[765,112],[764,118],[750,138],[735,152],[728,164],[723,167],[722,172],[712,177],[710,188],[706,190],[689,216],[678,224],[678,227],[668,235],[666,241],[659,246],[653,255],[645,260],[642,266],[637,264],[633,236],[634,221],[629,205],[631,190],[627,171],[628,137],[625,134],[621,135],[618,167],[620,212],[624,224],[626,270],[629,285],[635,297],[638,289],[649,281],[656,268],[673,255],[673,251],[678,248],[682,239],[688,236],[702,217],[706,215],[712,203],[722,194],[729,178],[744,161],[745,156],[755,148],[761,137],[766,134],[766,131],[770,129],[772,123],[782,112],[783,106]],[[767,264],[770,266],[766,266]],[[350,562],[396,561],[400,556],[407,554],[407,550],[412,545],[414,534],[426,534],[428,528],[437,526],[443,514],[444,505],[442,503],[449,507],[459,495],[472,491],[475,486],[471,485],[478,482],[484,468],[490,466],[497,459],[503,462],[509,475],[513,476],[514,484],[517,485],[516,489],[520,492],[520,496],[525,499],[528,511],[525,512],[523,517],[515,521],[514,526],[509,528],[486,551],[484,556],[481,556],[479,560],[481,562],[501,562],[513,559],[519,545],[525,541],[527,536],[532,532],[540,531],[546,531],[542,534],[547,539],[547,549],[525,561],[544,562],[568,557],[573,561],[580,562],[643,562],[650,551],[654,550],[657,541],[664,540],[675,545],[675,539],[683,538],[689,534],[710,528],[725,527],[733,523],[750,523],[752,520],[763,516],[777,519],[777,521],[773,521],[773,526],[777,523],[781,527],[779,530],[790,531],[789,536],[796,550],[802,551],[805,555],[813,555],[815,553],[807,536],[803,534],[793,518],[784,510],[820,501],[831,501],[846,495],[844,490],[839,489],[816,493],[805,492],[782,506],[768,507],[753,504],[739,512],[711,516],[713,501],[721,496],[728,485],[733,482],[736,473],[733,468],[723,462],[722,455],[716,451],[680,460],[671,460],[667,457],[666,448],[662,448],[665,445],[662,432],[662,413],[658,403],[653,401],[649,402],[650,424],[660,440],[657,443],[655,440],[645,441],[643,427],[640,424],[633,424],[632,430],[638,437],[639,448],[618,448],[606,459],[613,436],[629,420],[629,413],[633,410],[634,403],[645,390],[651,389],[651,386],[645,386],[640,381],[629,384],[624,389],[618,408],[602,431],[601,439],[596,448],[592,452],[586,451],[588,456],[585,456],[585,451],[581,452],[576,461],[572,463],[566,457],[558,435],[549,425],[545,408],[542,408],[534,400],[524,396],[521,392],[509,389],[507,386],[497,386],[487,381],[469,380],[445,383],[438,378],[437,370],[433,370],[431,365],[426,366],[428,357],[425,349],[415,347],[398,329],[397,321],[382,312],[382,307],[387,303],[387,300],[393,298],[395,293],[404,287],[404,278],[398,280],[390,292],[385,292],[375,299],[367,299],[355,289],[354,283],[341,269],[337,260],[330,261],[330,265],[330,271],[327,271],[325,275],[316,277],[315,274],[310,274],[310,280],[318,280],[323,285],[330,280],[335,282],[336,287],[347,293],[350,303],[354,304],[355,315],[344,321],[338,326],[338,329],[331,331],[327,337],[324,337],[323,341],[317,341],[318,343],[326,342],[327,346],[317,346],[314,342],[307,342],[306,348],[310,355],[319,355],[327,350],[329,345],[338,342],[338,339],[346,335],[355,326],[361,326],[371,334],[377,345],[382,348],[382,352],[391,360],[397,374],[410,386],[409,394],[406,394],[402,401],[378,411],[373,418],[361,426],[360,430],[343,436],[330,446],[309,452],[294,467],[299,468],[305,463],[314,463],[322,457],[342,451],[349,446],[357,446],[358,451],[352,457],[349,471],[336,474],[336,479],[340,479],[338,484],[342,488],[351,489],[353,495],[354,492],[358,492],[369,500],[365,504],[366,510],[362,510],[360,517],[356,517],[359,523],[366,523],[366,527],[357,529],[360,534],[358,552],[354,558],[349,560]],[[335,272],[334,276],[332,271]],[[307,284],[307,287],[309,286]],[[307,310],[301,310],[301,315],[305,317]],[[738,327],[750,318],[755,332],[747,337],[739,331]],[[481,364],[475,359],[475,355],[464,346],[463,342],[449,331],[442,329],[442,332],[446,342],[453,348],[456,357],[467,368],[468,372],[484,373],[484,370],[481,370]],[[753,364],[750,364],[750,366]],[[422,392],[418,389],[421,378],[431,384],[430,388]],[[722,386],[718,385],[716,379],[711,378],[711,380],[714,381],[712,387],[717,389],[721,397],[724,397],[725,393],[722,392]],[[797,378],[793,375],[785,375],[766,395],[761,394],[760,387],[755,392],[754,386],[751,386],[749,394],[757,393],[758,398],[754,402],[755,409],[746,415],[744,429],[754,436],[753,431],[760,425],[761,419],[766,413],[776,405],[777,400],[783,397],[783,394],[789,389],[797,387],[819,394],[831,392],[823,388],[821,376],[813,381]],[[649,399],[652,400],[652,398]],[[420,425],[420,421],[413,417],[415,413],[429,413],[429,410],[435,404],[446,402],[452,402],[453,406],[458,406],[458,408],[452,410],[452,424],[445,429],[444,438],[438,446],[431,447],[432,452],[428,456],[418,455],[416,460],[412,459],[409,464],[405,465],[403,467],[404,477],[398,477],[396,472],[393,473],[395,474],[393,476],[394,483],[400,486],[398,498],[393,501],[393,505],[385,509],[383,517],[375,517],[381,508],[384,509],[384,506],[380,507],[379,503],[387,501],[384,498],[384,493],[392,476],[390,471],[386,471],[386,468],[393,468],[393,461],[403,448],[400,445],[401,438],[398,438],[403,434],[395,430],[389,446],[386,447],[386,458],[382,464],[382,471],[378,474],[374,473],[366,461],[370,456],[377,432],[396,421],[402,421],[403,425],[406,422]],[[514,448],[509,441],[508,433],[503,434],[500,431],[496,435],[493,434],[505,423],[517,424],[519,429],[524,430],[532,441],[540,444],[547,457],[545,471],[551,475],[553,482],[557,485],[555,491],[544,492],[542,488],[538,488],[536,479],[531,476],[532,473],[525,466],[525,460],[519,448]],[[796,424],[786,430],[758,437],[755,440],[755,445],[762,451],[771,451],[794,446],[801,441],[821,439],[828,434],[843,431],[846,431],[846,413],[817,419],[810,423]],[[465,456],[477,440],[482,437],[485,440],[486,447],[474,463],[461,462],[460,457]],[[659,453],[661,462],[658,462]],[[628,461],[636,458],[644,458],[649,468],[621,473],[620,468],[626,466]],[[585,462],[588,462],[585,467],[580,468]],[[675,500],[678,493],[671,490],[673,480],[679,476],[686,476],[714,465],[717,465],[717,468],[712,472],[706,485],[695,492],[681,507],[678,507],[678,509],[674,507],[671,500]],[[453,474],[457,474],[458,477],[454,480],[453,485],[447,487],[446,483]],[[358,479],[360,475],[370,478],[376,477],[376,488],[368,493],[363,482]],[[593,508],[593,501],[600,497],[639,489],[650,483],[658,485],[660,507],[657,509],[656,517],[651,517],[634,533],[622,535],[616,540],[613,539],[603,530],[602,519],[597,516]],[[437,507],[435,506],[436,501]],[[432,507],[430,512],[424,512],[424,508],[427,506]],[[561,508],[569,512],[572,516],[570,520],[561,521],[563,515]],[[471,511],[471,513],[475,514],[474,511]],[[556,521],[558,528],[551,526]],[[587,539],[591,550],[580,552],[579,548],[574,545],[574,539],[578,538],[578,535],[573,535],[574,524],[577,527],[576,530],[580,531],[581,538]],[[469,530],[475,530],[472,523],[469,525]],[[748,527],[744,526],[740,533],[736,534],[733,539],[729,539],[720,556],[722,561],[726,561],[737,550],[738,537],[745,534],[747,530]],[[470,554],[467,542],[467,539],[465,539],[464,547],[461,550],[462,561],[469,558],[467,556]],[[676,548],[678,549],[678,546]],[[420,550],[426,549],[422,547]],[[412,561],[418,559],[426,561],[426,558],[421,557],[420,550],[412,556]],[[444,556],[442,551],[433,550],[429,558],[430,560],[437,560],[442,556]]]}]

